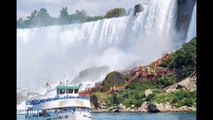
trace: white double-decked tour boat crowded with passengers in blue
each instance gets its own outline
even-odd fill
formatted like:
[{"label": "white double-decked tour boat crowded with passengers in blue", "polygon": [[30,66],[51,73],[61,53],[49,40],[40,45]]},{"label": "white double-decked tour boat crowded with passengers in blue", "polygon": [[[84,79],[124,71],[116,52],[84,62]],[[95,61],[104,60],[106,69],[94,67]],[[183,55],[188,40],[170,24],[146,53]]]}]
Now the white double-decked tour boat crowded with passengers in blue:
[{"label": "white double-decked tour boat crowded with passengers in blue", "polygon": [[57,96],[26,101],[26,120],[92,120],[90,100],[80,86],[59,85]]}]

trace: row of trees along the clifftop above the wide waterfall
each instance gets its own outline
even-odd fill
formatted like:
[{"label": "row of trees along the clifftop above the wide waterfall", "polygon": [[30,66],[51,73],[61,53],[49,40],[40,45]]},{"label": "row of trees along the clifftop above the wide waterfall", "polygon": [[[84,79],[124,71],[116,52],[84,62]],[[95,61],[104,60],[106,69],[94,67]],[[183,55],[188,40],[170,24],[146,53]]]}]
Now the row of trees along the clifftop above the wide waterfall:
[{"label": "row of trees along the clifftop above the wide waterfall", "polygon": [[[129,13],[128,13],[129,14]],[[30,16],[26,19],[19,18],[17,20],[17,28],[29,28],[48,25],[64,25],[72,23],[83,23],[101,20],[104,18],[121,17],[127,15],[124,8],[114,8],[109,10],[104,16],[89,16],[86,10],[76,10],[75,13],[69,14],[68,8],[63,7],[60,10],[58,18],[51,17],[45,8],[41,8],[39,11],[34,10]]]}]

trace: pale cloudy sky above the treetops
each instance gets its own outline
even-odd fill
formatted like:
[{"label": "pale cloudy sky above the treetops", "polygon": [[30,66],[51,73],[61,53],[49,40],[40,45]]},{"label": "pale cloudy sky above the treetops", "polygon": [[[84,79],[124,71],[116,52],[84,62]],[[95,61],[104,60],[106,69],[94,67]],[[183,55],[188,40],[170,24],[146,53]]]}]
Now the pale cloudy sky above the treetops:
[{"label": "pale cloudy sky above the treetops", "polygon": [[86,10],[89,15],[105,15],[112,8],[129,8],[149,0],[17,0],[17,19],[26,18],[34,10],[46,8],[52,17],[58,17],[63,7],[72,14],[76,10]]}]

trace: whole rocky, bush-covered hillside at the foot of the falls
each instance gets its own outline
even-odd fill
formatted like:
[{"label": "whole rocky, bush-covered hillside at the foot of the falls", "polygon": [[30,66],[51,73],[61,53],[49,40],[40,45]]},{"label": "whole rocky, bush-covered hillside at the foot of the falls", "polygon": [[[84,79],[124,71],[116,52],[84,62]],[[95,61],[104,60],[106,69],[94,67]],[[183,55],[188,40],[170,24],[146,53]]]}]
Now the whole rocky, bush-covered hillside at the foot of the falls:
[{"label": "whole rocky, bush-covered hillside at the foot of the falls", "polygon": [[[93,93],[90,97],[94,109],[115,112],[196,111],[196,38],[171,53],[160,66],[156,68],[158,72],[153,79],[137,71],[145,69],[145,66],[121,71],[123,74],[109,73],[101,88],[115,86],[112,88],[114,92],[100,89]],[[167,72],[159,72],[163,68]],[[168,72],[170,69],[174,71]],[[131,82],[126,78],[131,78]],[[129,84],[124,89],[116,89],[126,83]]]}]

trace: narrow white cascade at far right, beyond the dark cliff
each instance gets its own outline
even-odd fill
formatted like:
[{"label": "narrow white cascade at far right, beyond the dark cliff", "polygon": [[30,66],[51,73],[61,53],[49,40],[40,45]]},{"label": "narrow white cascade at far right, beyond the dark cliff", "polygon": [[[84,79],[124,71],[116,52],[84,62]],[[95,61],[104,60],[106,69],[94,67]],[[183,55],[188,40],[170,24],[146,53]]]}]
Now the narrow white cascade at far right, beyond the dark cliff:
[{"label": "narrow white cascade at far right, beyond the dark cliff", "polygon": [[186,42],[189,42],[192,38],[197,36],[197,3],[195,3],[195,6],[193,8],[193,13],[192,13],[192,18],[189,24],[189,30],[187,32],[187,38],[186,38]]}]

